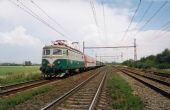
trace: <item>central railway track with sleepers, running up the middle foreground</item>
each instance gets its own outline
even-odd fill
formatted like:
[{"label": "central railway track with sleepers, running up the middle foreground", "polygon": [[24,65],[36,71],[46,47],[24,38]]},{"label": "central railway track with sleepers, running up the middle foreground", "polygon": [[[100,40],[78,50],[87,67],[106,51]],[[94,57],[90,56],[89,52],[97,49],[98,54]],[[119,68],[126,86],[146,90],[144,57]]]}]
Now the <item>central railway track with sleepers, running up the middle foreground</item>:
[{"label": "central railway track with sleepers, running up the middle foreground", "polygon": [[95,109],[105,78],[106,72],[99,71],[41,110]]}]

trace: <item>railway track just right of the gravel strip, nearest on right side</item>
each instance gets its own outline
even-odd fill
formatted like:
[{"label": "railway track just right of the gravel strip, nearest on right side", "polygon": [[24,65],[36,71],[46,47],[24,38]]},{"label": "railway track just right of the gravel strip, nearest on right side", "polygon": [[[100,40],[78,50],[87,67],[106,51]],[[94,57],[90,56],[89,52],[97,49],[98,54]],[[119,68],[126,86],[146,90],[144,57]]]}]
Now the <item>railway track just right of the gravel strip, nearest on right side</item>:
[{"label": "railway track just right of the gravel strip, nearest on right side", "polygon": [[153,89],[154,91],[160,93],[164,97],[170,99],[170,84],[164,84],[164,82],[157,81],[150,77],[145,77],[135,73],[134,71],[128,71],[126,69],[117,68],[119,71],[127,74],[128,76],[134,78],[135,80],[143,83],[144,85],[148,86],[149,88]]}]

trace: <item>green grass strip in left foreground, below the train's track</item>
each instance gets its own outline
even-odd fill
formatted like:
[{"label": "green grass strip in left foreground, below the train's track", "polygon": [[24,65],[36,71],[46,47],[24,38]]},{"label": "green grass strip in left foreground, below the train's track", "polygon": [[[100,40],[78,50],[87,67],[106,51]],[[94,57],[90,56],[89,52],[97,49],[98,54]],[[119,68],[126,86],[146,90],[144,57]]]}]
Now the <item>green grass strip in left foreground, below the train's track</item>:
[{"label": "green grass strip in left foreground, below the train's track", "polygon": [[27,100],[32,99],[34,96],[48,92],[53,88],[52,85],[46,85],[39,88],[35,88],[31,91],[26,91],[17,96],[12,96],[6,99],[0,99],[0,110],[9,110],[15,105],[21,104]]}]

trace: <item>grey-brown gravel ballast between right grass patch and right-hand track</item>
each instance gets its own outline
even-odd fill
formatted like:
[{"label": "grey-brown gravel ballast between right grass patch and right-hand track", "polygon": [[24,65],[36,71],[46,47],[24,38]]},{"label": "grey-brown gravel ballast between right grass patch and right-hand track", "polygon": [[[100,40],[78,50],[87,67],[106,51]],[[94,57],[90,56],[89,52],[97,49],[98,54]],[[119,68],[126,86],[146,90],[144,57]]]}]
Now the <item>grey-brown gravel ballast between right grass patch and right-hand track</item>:
[{"label": "grey-brown gravel ballast between right grass patch and right-hand track", "polygon": [[118,72],[118,74],[129,83],[134,90],[133,94],[141,97],[145,105],[145,110],[170,110],[170,100],[168,98],[122,72]]}]

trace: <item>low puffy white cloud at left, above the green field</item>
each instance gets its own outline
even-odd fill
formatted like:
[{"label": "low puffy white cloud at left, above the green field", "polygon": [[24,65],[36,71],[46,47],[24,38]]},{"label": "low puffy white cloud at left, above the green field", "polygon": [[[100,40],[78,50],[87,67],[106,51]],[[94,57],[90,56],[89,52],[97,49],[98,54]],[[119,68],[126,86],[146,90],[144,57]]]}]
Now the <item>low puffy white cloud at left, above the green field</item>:
[{"label": "low puffy white cloud at left, above the green field", "polygon": [[26,33],[22,26],[16,27],[11,32],[0,32],[0,44],[19,45],[19,46],[36,46],[41,47],[42,42]]}]

